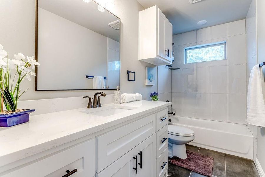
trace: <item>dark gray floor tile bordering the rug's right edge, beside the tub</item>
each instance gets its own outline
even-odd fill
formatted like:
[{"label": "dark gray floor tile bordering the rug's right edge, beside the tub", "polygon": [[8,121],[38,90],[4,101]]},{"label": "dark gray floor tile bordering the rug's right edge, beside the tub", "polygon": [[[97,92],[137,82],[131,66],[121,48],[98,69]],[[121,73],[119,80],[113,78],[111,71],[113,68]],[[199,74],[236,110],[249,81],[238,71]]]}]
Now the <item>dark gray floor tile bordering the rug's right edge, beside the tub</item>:
[{"label": "dark gray floor tile bordering the rug's right edge, beside the tub", "polygon": [[213,150],[208,150],[200,148],[200,154],[208,155],[213,157],[213,176],[225,177],[226,167],[225,167],[225,154]]}]

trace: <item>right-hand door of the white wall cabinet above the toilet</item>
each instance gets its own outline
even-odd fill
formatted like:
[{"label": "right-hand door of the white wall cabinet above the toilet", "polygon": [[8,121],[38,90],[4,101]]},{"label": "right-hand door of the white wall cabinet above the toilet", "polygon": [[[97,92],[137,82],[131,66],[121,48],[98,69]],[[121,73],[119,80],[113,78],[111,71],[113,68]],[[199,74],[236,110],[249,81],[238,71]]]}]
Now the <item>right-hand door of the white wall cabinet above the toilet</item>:
[{"label": "right-hand door of the white wall cabinet above the toilet", "polygon": [[168,49],[168,57],[166,58],[169,61],[172,61],[172,24],[165,20],[165,49]]}]

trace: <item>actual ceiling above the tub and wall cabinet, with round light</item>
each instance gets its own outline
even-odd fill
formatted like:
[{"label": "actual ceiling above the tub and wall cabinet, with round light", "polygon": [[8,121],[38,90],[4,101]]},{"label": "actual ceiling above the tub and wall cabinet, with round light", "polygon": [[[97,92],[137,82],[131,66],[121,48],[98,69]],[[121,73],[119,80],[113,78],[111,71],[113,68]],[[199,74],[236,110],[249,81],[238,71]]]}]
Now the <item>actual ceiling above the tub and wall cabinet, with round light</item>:
[{"label": "actual ceiling above the tub and wall cabinet, with round light", "polygon": [[[146,9],[158,5],[173,25],[173,35],[246,18],[251,0],[138,0]],[[200,20],[207,20],[198,25]]]}]

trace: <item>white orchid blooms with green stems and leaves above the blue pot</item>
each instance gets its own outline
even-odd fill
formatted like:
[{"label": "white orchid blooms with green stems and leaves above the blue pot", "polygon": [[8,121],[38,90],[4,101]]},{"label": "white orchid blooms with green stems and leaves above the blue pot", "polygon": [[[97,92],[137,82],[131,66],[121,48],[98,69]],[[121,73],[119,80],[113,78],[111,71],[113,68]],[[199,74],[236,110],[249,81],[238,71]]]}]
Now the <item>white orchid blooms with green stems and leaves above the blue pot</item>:
[{"label": "white orchid blooms with green stems and leaves above the blue pot", "polygon": [[8,111],[16,111],[19,97],[25,92],[21,93],[20,83],[25,78],[30,81],[31,75],[36,77],[34,71],[37,65],[40,64],[34,59],[34,56],[25,57],[22,53],[15,54],[14,59],[9,59],[8,53],[3,50],[3,46],[0,44],[1,112],[3,111],[3,104]]}]

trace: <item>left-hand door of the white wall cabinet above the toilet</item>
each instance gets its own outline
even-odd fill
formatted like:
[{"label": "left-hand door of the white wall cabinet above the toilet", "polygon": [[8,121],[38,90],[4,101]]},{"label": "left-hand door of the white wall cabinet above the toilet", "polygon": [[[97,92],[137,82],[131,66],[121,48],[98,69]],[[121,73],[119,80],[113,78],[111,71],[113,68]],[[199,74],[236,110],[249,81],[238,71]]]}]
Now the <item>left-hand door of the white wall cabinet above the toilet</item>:
[{"label": "left-hand door of the white wall cabinet above the toilet", "polygon": [[165,22],[165,15],[161,12],[160,9],[158,9],[157,55],[166,59],[167,52],[165,48]]}]

